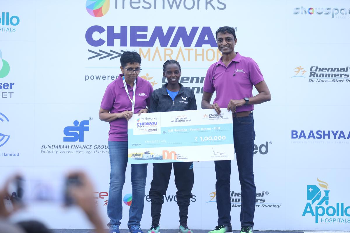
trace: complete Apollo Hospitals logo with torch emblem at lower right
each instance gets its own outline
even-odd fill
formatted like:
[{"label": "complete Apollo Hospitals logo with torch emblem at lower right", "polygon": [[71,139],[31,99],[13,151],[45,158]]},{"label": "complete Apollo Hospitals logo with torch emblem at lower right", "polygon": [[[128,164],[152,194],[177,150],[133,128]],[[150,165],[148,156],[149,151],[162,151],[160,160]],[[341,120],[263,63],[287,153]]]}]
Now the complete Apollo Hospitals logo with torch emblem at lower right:
[{"label": "complete Apollo Hospitals logo with torch emblem at lower right", "polygon": [[[336,203],[335,206],[329,205],[329,186],[328,183],[317,178],[317,185],[307,185],[307,202],[302,216],[311,215],[315,217],[315,223],[350,223],[350,206],[344,208],[344,203]],[[323,192],[322,192],[323,191]]]}]

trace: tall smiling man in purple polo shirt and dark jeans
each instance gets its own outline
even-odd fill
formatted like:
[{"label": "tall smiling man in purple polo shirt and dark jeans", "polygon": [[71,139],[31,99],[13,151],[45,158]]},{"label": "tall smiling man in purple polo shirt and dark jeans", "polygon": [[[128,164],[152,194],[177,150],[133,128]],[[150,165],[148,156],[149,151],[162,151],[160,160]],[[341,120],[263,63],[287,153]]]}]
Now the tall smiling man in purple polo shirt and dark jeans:
[{"label": "tall smiling man in purple polo shirt and dark jeans", "polygon": [[[236,151],[242,204],[240,212],[241,233],[253,233],[255,211],[255,184],[253,174],[254,119],[253,104],[271,100],[270,91],[255,61],[235,52],[235,29],[222,27],[216,31],[218,49],[222,57],[212,64],[205,76],[201,107],[214,108],[220,114],[222,108],[232,111],[233,142]],[[253,85],[259,94],[253,96]],[[216,98],[210,104],[213,93]],[[232,151],[233,153],[233,151]],[[209,233],[232,232],[230,176],[231,161],[215,161],[216,205],[218,226]]]}]

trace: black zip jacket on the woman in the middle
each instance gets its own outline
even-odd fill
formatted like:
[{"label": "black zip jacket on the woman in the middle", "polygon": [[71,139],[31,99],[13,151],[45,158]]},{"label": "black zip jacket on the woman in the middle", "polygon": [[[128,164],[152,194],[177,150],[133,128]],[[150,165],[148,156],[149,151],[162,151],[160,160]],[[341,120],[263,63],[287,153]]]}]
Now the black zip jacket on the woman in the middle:
[{"label": "black zip jacket on the woman in the middle", "polygon": [[165,83],[152,93],[149,112],[197,110],[196,97],[192,89],[179,83],[180,90],[173,101],[172,97],[168,95],[167,85],[168,83]]}]

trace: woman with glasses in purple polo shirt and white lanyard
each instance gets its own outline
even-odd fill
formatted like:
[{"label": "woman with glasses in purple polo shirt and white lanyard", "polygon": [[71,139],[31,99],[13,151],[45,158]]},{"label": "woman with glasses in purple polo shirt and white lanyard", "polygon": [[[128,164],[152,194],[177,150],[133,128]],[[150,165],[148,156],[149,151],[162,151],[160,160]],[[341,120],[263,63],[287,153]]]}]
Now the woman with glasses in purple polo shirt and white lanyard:
[{"label": "woman with glasses in purple polo shirt and white lanyard", "polygon": [[[102,98],[99,118],[110,123],[108,145],[111,160],[111,177],[107,214],[110,233],[120,233],[122,217],[122,190],[128,161],[127,121],[133,113],[148,112],[153,88],[151,83],[138,77],[141,57],[137,52],[125,52],[120,57],[121,74],[111,82]],[[132,204],[128,228],[131,233],[143,233],[140,229],[144,211],[147,163],[131,165]]]}]

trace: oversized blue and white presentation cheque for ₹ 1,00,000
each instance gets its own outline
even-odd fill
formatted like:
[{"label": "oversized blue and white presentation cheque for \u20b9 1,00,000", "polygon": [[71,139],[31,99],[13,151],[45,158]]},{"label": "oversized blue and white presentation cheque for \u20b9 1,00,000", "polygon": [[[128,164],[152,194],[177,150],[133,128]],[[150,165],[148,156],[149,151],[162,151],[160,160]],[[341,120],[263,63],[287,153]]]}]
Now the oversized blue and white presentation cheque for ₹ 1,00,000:
[{"label": "oversized blue and white presentation cheque for \u20b9 1,00,000", "polygon": [[128,121],[128,163],[234,159],[232,112],[153,112]]}]

